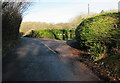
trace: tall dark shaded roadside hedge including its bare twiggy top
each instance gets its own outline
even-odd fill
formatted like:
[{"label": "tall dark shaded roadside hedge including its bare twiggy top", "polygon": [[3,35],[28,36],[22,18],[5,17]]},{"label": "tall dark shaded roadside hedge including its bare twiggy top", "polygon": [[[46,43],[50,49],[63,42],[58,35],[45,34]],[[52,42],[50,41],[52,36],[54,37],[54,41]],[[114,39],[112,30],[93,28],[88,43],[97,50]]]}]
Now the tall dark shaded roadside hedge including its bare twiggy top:
[{"label": "tall dark shaded roadside hedge including its bare twiggy top", "polygon": [[29,6],[25,0],[2,1],[2,52],[3,55],[19,41],[19,28],[23,12]]}]

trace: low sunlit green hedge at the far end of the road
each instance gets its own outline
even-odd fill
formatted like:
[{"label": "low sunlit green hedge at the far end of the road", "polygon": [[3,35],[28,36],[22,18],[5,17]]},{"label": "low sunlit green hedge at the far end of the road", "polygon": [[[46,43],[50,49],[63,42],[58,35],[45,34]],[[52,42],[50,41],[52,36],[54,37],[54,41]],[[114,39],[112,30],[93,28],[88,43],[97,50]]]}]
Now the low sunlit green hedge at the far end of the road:
[{"label": "low sunlit green hedge at the far end of the road", "polygon": [[75,30],[45,29],[45,30],[31,31],[31,33],[26,35],[25,37],[40,37],[40,38],[68,40],[68,39],[74,39]]}]

